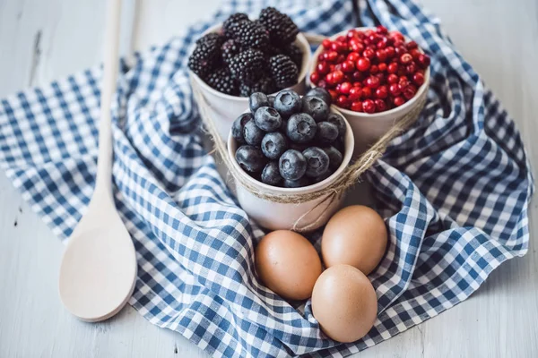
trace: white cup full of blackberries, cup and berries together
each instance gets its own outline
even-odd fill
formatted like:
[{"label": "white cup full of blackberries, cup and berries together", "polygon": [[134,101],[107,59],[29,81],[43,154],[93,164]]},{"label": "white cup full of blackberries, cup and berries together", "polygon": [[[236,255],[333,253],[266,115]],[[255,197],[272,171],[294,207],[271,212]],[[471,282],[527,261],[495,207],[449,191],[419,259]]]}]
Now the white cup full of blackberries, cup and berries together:
[{"label": "white cup full of blackberries, cup and berries together", "polygon": [[307,39],[285,13],[266,7],[256,20],[234,13],[206,30],[188,59],[222,141],[255,92],[303,94],[310,61]]}]

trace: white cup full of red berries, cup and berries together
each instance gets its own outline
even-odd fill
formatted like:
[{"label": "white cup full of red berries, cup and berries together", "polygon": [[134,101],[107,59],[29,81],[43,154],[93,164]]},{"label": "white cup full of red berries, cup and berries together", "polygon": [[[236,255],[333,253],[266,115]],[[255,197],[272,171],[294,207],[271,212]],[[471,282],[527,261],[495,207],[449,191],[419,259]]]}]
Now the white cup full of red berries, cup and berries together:
[{"label": "white cup full of red berries, cup and berries together", "polygon": [[430,56],[415,41],[384,26],[345,30],[325,38],[313,55],[308,80],[331,94],[368,149],[405,115],[424,105]]}]

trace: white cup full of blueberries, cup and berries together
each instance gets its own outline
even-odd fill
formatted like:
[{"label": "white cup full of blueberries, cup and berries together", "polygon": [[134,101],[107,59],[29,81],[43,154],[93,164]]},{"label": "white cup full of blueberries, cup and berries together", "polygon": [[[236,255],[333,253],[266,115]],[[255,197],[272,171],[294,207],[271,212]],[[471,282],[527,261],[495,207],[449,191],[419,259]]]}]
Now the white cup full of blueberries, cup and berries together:
[{"label": "white cup full of blueberries, cup and berries together", "polygon": [[[228,137],[233,175],[241,175],[257,192],[280,196],[323,190],[342,175],[351,160],[353,132],[331,107],[326,90],[309,90],[304,97],[293,90],[275,96],[255,92],[248,99],[249,109],[233,122]],[[325,200],[327,192],[307,202],[274,202],[236,182],[241,207],[271,230],[314,230],[325,225],[343,200]]]}]

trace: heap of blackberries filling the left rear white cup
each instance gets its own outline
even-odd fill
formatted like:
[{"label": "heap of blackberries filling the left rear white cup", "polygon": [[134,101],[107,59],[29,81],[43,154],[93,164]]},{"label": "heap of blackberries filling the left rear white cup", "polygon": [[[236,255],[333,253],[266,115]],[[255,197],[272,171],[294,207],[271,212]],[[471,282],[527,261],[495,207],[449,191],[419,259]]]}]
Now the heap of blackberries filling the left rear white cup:
[{"label": "heap of blackberries filling the left rear white cup", "polygon": [[293,42],[299,29],[291,18],[266,7],[258,20],[234,13],[219,33],[196,41],[188,67],[213,89],[248,97],[297,83],[302,52]]}]

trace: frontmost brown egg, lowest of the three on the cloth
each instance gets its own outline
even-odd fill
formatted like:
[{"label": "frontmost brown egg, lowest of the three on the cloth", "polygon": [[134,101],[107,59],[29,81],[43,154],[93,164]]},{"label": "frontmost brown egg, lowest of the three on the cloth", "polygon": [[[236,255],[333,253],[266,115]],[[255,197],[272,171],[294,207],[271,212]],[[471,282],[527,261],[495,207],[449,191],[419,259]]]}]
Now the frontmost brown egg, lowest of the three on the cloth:
[{"label": "frontmost brown egg, lowest of the three on the cloth", "polygon": [[354,342],[366,336],[376,321],[376,292],[357,268],[335,265],[317,279],[312,313],[325,335],[338,342]]}]

